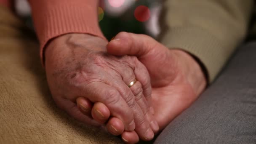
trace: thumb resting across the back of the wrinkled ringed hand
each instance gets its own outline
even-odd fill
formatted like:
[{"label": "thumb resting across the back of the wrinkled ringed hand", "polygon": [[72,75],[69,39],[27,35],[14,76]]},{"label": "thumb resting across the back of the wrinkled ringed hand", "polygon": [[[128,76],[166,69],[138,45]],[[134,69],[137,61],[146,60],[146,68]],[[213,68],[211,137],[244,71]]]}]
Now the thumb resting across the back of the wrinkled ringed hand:
[{"label": "thumb resting across the back of the wrinkled ringed hand", "polygon": [[107,52],[115,56],[132,55],[140,59],[157,44],[157,41],[147,35],[120,32],[107,44]]}]

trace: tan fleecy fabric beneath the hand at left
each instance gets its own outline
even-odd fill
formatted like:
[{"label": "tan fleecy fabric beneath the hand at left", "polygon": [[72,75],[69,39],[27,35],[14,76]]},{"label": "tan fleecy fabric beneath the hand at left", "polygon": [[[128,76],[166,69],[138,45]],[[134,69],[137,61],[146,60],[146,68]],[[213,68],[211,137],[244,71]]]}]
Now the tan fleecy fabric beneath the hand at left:
[{"label": "tan fleecy fabric beneath the hand at left", "polygon": [[56,107],[36,36],[0,7],[0,144],[120,144]]}]

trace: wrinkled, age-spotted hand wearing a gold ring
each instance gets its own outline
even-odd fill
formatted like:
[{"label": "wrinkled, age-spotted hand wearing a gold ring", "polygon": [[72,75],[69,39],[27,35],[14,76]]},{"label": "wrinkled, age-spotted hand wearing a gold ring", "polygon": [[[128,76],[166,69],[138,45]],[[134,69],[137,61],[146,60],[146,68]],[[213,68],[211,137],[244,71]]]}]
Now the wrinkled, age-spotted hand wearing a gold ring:
[{"label": "wrinkled, age-spotted hand wearing a gold ring", "polygon": [[[110,133],[135,129],[142,139],[150,140],[159,127],[151,124],[155,120],[149,111],[147,69],[135,56],[108,55],[106,45],[101,38],[85,34],[67,34],[49,43],[45,69],[53,99],[83,123],[101,125],[111,116]],[[134,79],[138,81],[128,88]]]}]

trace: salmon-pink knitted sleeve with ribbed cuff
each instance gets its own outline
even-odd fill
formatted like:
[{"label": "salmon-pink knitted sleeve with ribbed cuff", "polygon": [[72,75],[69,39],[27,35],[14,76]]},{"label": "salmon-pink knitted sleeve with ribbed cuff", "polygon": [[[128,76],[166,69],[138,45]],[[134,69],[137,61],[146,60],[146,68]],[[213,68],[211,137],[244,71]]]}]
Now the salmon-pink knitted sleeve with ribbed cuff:
[{"label": "salmon-pink knitted sleeve with ribbed cuff", "polygon": [[40,56],[54,37],[67,33],[87,33],[106,40],[98,24],[98,0],[29,0],[32,8]]}]

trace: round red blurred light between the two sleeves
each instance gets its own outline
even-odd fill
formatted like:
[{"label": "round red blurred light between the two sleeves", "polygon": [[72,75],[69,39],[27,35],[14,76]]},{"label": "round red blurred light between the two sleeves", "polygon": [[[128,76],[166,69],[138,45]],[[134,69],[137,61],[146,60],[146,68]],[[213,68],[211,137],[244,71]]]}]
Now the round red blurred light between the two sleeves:
[{"label": "round red blurred light between the two sleeves", "polygon": [[140,5],[135,9],[134,16],[138,21],[147,21],[150,18],[150,10],[147,6]]}]

